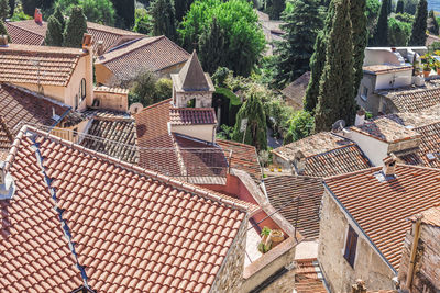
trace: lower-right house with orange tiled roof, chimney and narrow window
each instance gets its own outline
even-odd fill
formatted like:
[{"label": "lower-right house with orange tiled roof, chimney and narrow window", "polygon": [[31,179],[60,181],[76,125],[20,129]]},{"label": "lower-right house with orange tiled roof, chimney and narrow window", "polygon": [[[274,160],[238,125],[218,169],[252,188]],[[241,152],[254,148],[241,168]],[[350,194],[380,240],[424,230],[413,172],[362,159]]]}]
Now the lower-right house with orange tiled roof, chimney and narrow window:
[{"label": "lower-right house with orange tiled roof, chimney and narrow window", "polygon": [[407,218],[440,204],[440,170],[399,165],[324,179],[318,259],[332,292],[395,290]]}]

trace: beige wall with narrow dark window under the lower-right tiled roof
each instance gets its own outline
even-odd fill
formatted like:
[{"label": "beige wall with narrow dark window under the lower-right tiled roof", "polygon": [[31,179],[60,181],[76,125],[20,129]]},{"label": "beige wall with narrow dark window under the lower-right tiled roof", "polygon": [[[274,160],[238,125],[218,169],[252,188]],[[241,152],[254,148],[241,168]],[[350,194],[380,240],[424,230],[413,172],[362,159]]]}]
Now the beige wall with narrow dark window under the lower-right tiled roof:
[{"label": "beige wall with narrow dark window under the lower-right tiled roof", "polygon": [[[393,270],[327,190],[322,204],[318,259],[331,292],[351,292],[351,285],[356,279],[364,280],[369,291],[393,290]],[[343,257],[349,223],[359,235],[354,268]]]}]

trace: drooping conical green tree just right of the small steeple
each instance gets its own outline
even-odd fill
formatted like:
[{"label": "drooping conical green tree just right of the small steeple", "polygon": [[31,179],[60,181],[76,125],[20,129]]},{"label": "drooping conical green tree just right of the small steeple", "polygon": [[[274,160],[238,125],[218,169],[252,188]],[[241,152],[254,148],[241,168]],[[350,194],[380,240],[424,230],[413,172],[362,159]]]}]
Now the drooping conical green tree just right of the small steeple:
[{"label": "drooping conical green tree just right of the small steeple", "polygon": [[[241,132],[241,123],[248,119],[245,132]],[[237,113],[237,123],[232,134],[232,139],[255,146],[257,150],[267,149],[266,115],[264,113],[262,97],[256,91],[251,91],[248,100]]]}]

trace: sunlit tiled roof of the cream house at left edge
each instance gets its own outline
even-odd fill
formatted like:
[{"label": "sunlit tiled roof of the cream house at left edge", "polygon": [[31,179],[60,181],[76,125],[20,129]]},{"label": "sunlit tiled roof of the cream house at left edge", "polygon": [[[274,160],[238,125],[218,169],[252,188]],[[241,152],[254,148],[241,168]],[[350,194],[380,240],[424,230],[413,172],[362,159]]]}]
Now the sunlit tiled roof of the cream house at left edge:
[{"label": "sunlit tiled roof of the cream house at left edge", "polygon": [[78,48],[9,44],[0,47],[0,82],[66,87],[84,54]]}]

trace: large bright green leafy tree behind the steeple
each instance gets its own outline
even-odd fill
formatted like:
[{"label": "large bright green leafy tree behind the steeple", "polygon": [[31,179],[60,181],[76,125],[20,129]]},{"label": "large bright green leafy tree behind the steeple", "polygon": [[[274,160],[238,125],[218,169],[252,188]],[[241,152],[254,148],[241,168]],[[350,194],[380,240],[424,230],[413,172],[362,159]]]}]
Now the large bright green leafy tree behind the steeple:
[{"label": "large bright green leafy tree behind the steeple", "polygon": [[213,16],[224,31],[226,64],[235,75],[249,76],[265,48],[258,18],[246,0],[197,0],[180,24],[183,46],[191,52],[197,48],[200,35],[209,30]]}]

